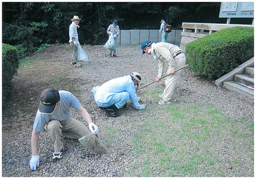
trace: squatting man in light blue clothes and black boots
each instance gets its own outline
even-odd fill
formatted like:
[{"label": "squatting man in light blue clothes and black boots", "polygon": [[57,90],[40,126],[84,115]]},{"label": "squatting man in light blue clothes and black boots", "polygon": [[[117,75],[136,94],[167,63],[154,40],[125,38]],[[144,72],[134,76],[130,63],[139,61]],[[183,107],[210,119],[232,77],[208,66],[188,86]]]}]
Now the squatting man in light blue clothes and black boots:
[{"label": "squatting man in light blue clothes and black boots", "polygon": [[[93,87],[92,92],[96,103],[104,108],[106,114],[111,117],[118,117],[118,109],[127,107],[127,102],[132,100],[136,109],[144,109],[146,104],[140,104],[135,86],[141,82],[140,73],[133,72],[130,75],[118,77],[103,83],[101,86]],[[96,92],[95,92],[96,91]]]}]

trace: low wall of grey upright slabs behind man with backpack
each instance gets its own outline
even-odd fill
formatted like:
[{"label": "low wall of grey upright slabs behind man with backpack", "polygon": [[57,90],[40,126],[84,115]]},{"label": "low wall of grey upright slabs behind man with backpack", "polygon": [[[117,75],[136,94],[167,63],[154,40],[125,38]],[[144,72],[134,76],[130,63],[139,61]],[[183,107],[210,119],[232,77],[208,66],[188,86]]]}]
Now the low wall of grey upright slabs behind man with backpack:
[{"label": "low wall of grey upright slabs behind man with backpack", "polygon": [[[151,42],[161,42],[162,33],[159,30],[120,30],[120,36],[117,39],[117,45],[137,45],[149,40]],[[167,41],[169,43],[180,44],[182,30],[172,30],[168,33]]]}]

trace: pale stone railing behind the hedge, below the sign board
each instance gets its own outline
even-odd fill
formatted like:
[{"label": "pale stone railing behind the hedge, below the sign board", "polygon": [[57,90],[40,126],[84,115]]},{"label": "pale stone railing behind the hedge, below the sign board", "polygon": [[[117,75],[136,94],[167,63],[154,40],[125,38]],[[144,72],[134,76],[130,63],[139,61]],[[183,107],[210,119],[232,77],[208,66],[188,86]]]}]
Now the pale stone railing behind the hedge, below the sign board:
[{"label": "pale stone railing behind the hedge, below the sign board", "polygon": [[[221,29],[236,26],[254,27],[254,25],[244,24],[182,23],[183,31],[181,33],[182,39],[180,42],[180,48],[184,51],[186,44],[191,41],[207,36]],[[191,32],[191,30],[194,32]]]}]

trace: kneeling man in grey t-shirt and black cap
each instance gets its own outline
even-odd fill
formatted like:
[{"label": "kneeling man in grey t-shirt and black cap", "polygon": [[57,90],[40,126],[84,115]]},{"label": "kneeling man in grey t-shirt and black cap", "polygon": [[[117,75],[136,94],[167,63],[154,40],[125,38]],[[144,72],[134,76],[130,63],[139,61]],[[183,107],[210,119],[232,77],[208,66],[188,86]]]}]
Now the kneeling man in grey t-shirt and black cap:
[{"label": "kneeling man in grey t-shirt and black cap", "polygon": [[[79,139],[90,131],[81,122],[71,118],[70,108],[75,108],[89,124],[93,134],[98,133],[98,127],[79,100],[68,91],[57,91],[53,88],[45,89],[40,96],[40,104],[36,113],[31,136],[32,156],[30,169],[36,170],[39,165],[38,139],[43,130],[47,131],[54,142],[53,159],[61,159],[64,149],[61,137]],[[94,127],[94,130],[93,128]]]}]

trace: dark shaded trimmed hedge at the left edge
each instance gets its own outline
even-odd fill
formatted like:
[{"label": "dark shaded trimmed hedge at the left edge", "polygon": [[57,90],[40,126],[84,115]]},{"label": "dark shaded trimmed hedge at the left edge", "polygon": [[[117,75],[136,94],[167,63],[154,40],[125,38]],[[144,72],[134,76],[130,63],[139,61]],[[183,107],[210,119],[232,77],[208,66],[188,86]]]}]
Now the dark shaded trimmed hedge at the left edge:
[{"label": "dark shaded trimmed hedge at the left edge", "polygon": [[2,102],[12,90],[13,75],[17,74],[19,58],[17,49],[9,44],[2,43]]}]

